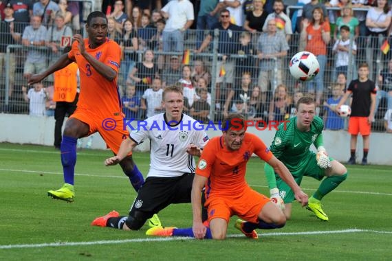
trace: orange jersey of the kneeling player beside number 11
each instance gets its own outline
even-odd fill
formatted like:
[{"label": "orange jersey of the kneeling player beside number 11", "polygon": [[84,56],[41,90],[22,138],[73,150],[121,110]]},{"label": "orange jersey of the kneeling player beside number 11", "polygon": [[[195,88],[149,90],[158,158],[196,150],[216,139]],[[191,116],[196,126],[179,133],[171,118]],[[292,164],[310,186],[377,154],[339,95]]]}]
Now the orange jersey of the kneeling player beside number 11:
[{"label": "orange jersey of the kneeling player beside number 11", "polygon": [[264,161],[273,156],[263,141],[252,133],[245,133],[241,148],[235,151],[226,148],[223,136],[210,139],[196,169],[197,175],[208,178],[206,198],[213,194],[233,196],[248,188],[246,163],[253,153]]}]

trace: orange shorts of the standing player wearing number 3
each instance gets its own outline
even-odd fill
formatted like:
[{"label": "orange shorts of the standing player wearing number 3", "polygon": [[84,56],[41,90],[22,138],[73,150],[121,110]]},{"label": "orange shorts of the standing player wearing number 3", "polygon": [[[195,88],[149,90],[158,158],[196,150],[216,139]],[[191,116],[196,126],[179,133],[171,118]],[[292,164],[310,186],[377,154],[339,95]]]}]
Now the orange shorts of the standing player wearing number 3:
[{"label": "orange shorts of the standing player wearing number 3", "polygon": [[[122,115],[105,117],[96,115],[85,109],[76,108],[76,111],[70,118],[78,119],[89,125],[89,134],[87,136],[98,131],[102,139],[106,142],[107,148],[110,148],[116,155],[118,154],[122,141],[129,136],[127,128],[124,128]],[[131,154],[129,153],[129,155]]]}]

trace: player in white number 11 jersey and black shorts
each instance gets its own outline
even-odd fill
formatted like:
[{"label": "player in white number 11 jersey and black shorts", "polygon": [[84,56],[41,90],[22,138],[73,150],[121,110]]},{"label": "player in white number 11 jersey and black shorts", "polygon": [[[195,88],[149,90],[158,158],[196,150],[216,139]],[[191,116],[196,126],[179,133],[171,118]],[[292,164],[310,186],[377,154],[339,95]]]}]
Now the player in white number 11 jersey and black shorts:
[{"label": "player in white number 11 jersey and black shorts", "polygon": [[[202,126],[182,113],[184,95],[179,87],[167,87],[162,94],[165,113],[149,117],[129,138],[122,141],[118,155],[105,160],[113,166],[144,139],[151,140],[151,164],[145,183],[138,191],[129,216],[112,211],[91,225],[138,230],[153,214],[170,204],[190,203],[195,160],[208,142]],[[145,127],[144,127],[145,126]]]}]

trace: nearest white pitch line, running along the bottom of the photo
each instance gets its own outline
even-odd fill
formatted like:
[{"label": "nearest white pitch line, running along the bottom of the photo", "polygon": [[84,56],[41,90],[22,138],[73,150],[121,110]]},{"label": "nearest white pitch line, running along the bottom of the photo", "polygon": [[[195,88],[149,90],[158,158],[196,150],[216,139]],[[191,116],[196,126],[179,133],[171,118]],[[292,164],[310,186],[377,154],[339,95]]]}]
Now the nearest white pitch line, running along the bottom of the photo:
[{"label": "nearest white pitch line, running along the bottom of the photo", "polygon": [[[344,230],[331,230],[331,231],[303,231],[303,232],[275,232],[263,233],[259,236],[298,236],[298,235],[320,235],[320,234],[344,234],[344,233],[379,233],[379,234],[392,234],[392,231],[377,231],[370,229],[344,229]],[[231,234],[228,238],[243,237],[242,234]],[[109,244],[124,244],[129,242],[160,242],[160,241],[176,241],[176,240],[193,240],[194,238],[184,237],[170,237],[170,238],[134,238],[124,240],[100,240],[89,242],[52,242],[43,244],[21,244],[21,245],[0,245],[0,249],[25,249],[25,248],[42,248],[42,247],[70,247],[81,245],[109,245]]]}]

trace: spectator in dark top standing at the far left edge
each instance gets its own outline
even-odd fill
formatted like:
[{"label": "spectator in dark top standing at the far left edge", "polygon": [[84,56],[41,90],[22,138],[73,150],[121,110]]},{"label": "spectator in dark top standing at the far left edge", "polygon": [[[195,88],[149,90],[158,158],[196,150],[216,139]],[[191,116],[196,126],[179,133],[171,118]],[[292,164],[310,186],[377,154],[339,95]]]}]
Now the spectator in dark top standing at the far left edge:
[{"label": "spectator in dark top standing at the far left edge", "polygon": [[[14,8],[8,3],[4,8],[4,21],[0,23],[0,74],[6,76],[6,52],[8,45],[16,45],[21,41],[21,26],[18,26],[14,19]],[[14,49],[10,53],[10,89],[8,89],[8,96],[11,97],[14,89],[14,74],[15,74],[15,54]],[[4,72],[3,72],[4,70]],[[3,81],[5,82],[5,81]]]}]

